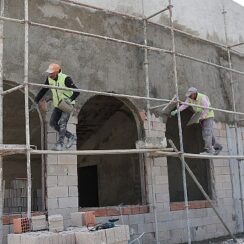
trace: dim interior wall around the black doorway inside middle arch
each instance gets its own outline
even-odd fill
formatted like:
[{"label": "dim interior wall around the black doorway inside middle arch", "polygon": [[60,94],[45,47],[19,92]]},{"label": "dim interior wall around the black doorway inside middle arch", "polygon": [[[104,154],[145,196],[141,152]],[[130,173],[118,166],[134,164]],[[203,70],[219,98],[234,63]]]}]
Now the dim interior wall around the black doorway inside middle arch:
[{"label": "dim interior wall around the black doorway inside middle arch", "polygon": [[[79,150],[135,148],[137,128],[127,113],[116,112]],[[97,165],[99,206],[141,203],[138,155],[78,156],[78,167],[89,165]]]}]

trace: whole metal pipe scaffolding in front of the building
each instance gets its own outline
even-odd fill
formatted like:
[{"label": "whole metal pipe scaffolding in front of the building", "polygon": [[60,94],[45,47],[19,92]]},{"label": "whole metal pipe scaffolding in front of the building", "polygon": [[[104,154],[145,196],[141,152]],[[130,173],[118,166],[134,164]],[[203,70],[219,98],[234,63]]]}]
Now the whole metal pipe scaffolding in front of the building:
[{"label": "whole metal pipe scaffolding in front of the building", "polygon": [[[240,160],[244,160],[244,155],[239,155],[239,145],[238,145],[238,138],[236,138],[236,146],[237,146],[237,155],[199,155],[199,154],[191,154],[191,153],[186,153],[184,151],[184,145],[183,145],[183,134],[182,134],[182,126],[181,126],[181,113],[179,106],[180,104],[186,104],[186,105],[191,105],[191,106],[196,106],[196,107],[202,107],[199,105],[192,105],[185,103],[184,101],[181,101],[179,98],[179,88],[178,88],[178,75],[177,75],[177,60],[176,58],[183,58],[183,59],[188,59],[192,60],[194,62],[202,63],[205,65],[209,65],[218,69],[223,69],[229,72],[230,74],[230,83],[231,83],[231,93],[232,93],[232,102],[233,102],[233,110],[226,110],[226,109],[220,109],[220,108],[214,108],[214,107],[208,107],[208,109],[212,109],[214,111],[221,111],[224,113],[228,114],[233,114],[234,115],[234,121],[235,121],[235,130],[236,130],[236,137],[237,137],[237,128],[238,128],[238,119],[237,115],[244,115],[244,112],[239,112],[236,110],[236,102],[235,102],[235,89],[234,89],[234,81],[233,81],[233,73],[239,74],[239,75],[244,75],[243,71],[236,70],[232,67],[232,62],[231,62],[231,55],[232,54],[237,54],[243,56],[242,53],[233,50],[233,47],[242,45],[243,43],[238,43],[234,45],[229,45],[228,44],[228,36],[227,36],[227,27],[226,27],[226,19],[225,19],[225,14],[226,11],[223,9],[223,16],[224,16],[224,27],[225,27],[225,35],[226,35],[226,45],[223,45],[221,43],[209,41],[203,38],[200,38],[198,36],[194,36],[192,34],[189,34],[187,32],[178,30],[174,27],[173,24],[173,5],[172,1],[168,1],[168,6],[163,8],[160,11],[157,11],[156,13],[148,16],[148,17],[143,17],[139,18],[136,16],[128,15],[128,14],[123,14],[123,13],[118,13],[115,11],[108,11],[103,8],[98,8],[95,6],[91,6],[88,4],[82,4],[78,3],[74,0],[61,0],[60,2],[65,3],[65,4],[71,4],[71,5],[79,5],[84,8],[90,8],[90,9],[95,9],[95,10],[100,10],[100,11],[105,11],[105,12],[111,12],[116,15],[120,15],[123,17],[127,17],[130,19],[135,19],[139,21],[143,21],[143,28],[144,28],[144,44],[138,44],[135,42],[130,42],[130,41],[125,41],[121,39],[116,39],[116,38],[111,38],[108,36],[103,36],[103,35],[97,35],[97,34],[92,34],[88,32],[82,32],[82,31],[77,31],[77,30],[72,30],[72,29],[65,29],[57,26],[51,26],[51,25],[46,25],[46,24],[41,24],[37,22],[33,22],[29,19],[29,7],[28,7],[28,1],[24,1],[24,19],[15,19],[15,18],[9,18],[4,16],[4,0],[1,0],[1,10],[0,10],[0,109],[1,109],[1,115],[0,115],[0,144],[2,145],[0,147],[0,189],[2,190],[2,182],[3,182],[3,175],[2,175],[2,157],[7,154],[25,154],[27,158],[27,181],[28,181],[28,205],[27,205],[27,217],[31,217],[31,155],[32,154],[38,154],[42,155],[51,155],[51,154],[59,154],[59,155],[106,155],[106,154],[145,154],[149,153],[149,156],[151,157],[151,165],[153,165],[153,160],[155,157],[178,157],[181,160],[182,164],[182,177],[183,177],[183,188],[184,188],[184,204],[185,204],[185,211],[186,211],[186,224],[187,224],[187,233],[188,233],[188,243],[191,243],[191,232],[190,232],[190,218],[189,218],[189,205],[188,205],[188,194],[187,194],[187,185],[186,185],[186,171],[189,173],[191,178],[194,180],[196,183],[197,187],[199,190],[203,193],[205,196],[206,200],[210,203],[211,207],[213,208],[214,212],[216,213],[217,217],[223,224],[224,228],[227,230],[229,235],[233,238],[233,240],[236,242],[236,238],[228,228],[228,226],[225,224],[224,220],[222,219],[221,215],[218,213],[218,210],[216,207],[213,205],[211,199],[207,195],[207,193],[204,191],[203,187],[201,184],[198,182],[197,178],[189,168],[188,164],[186,163],[185,159],[186,158],[199,158],[199,159],[236,159],[238,160],[238,167],[239,167],[239,177],[241,179],[240,175]],[[165,11],[168,11],[169,13],[169,21],[170,21],[170,26],[162,25],[162,24],[156,24],[153,23],[154,25],[159,25],[164,27],[165,29],[170,30],[171,33],[171,40],[172,40],[172,49],[167,50],[163,48],[158,48],[158,47],[152,47],[148,45],[148,40],[147,40],[147,26],[150,22],[150,19],[159,15],[160,13],[163,13]],[[17,24],[23,24],[25,27],[25,38],[24,38],[24,81],[21,84],[18,84],[16,87],[11,88],[9,90],[3,91],[3,23],[4,21],[10,21],[14,22]],[[56,30],[56,31],[61,31],[61,32],[66,32],[66,33],[72,33],[80,36],[86,36],[86,37],[91,37],[91,38],[96,38],[100,40],[104,40],[107,42],[115,42],[119,43],[121,45],[128,45],[128,46],[133,46],[137,47],[140,49],[144,50],[144,72],[145,72],[145,96],[135,96],[135,95],[128,95],[128,94],[117,94],[117,93],[109,93],[109,92],[102,92],[102,91],[95,91],[95,90],[85,90],[85,89],[72,89],[72,88],[60,88],[57,86],[50,86],[50,85],[43,85],[43,84],[36,84],[36,83],[31,83],[29,82],[28,78],[28,71],[29,71],[29,64],[28,64],[28,56],[29,56],[29,27],[30,26],[37,26],[40,28],[45,28],[45,29],[50,29],[50,30]],[[191,57],[182,53],[179,53],[176,51],[176,43],[175,43],[175,32],[184,34],[190,38],[194,38],[196,40],[201,40],[204,42],[207,42],[211,45],[214,45],[218,48],[222,48],[227,52],[228,55],[228,67],[209,62],[206,60],[202,60],[199,58]],[[62,90],[71,90],[71,91],[79,91],[83,93],[89,93],[89,94],[96,94],[96,95],[106,95],[106,96],[112,96],[112,97],[119,97],[119,98],[130,98],[130,99],[136,99],[136,100],[144,100],[146,101],[146,112],[147,112],[147,119],[149,123],[149,136],[151,134],[151,128],[150,128],[150,122],[151,122],[151,110],[158,108],[160,106],[164,105],[159,105],[159,106],[150,106],[150,101],[154,102],[161,102],[161,103],[167,103],[170,102],[170,99],[161,99],[161,98],[153,98],[150,97],[150,81],[149,81],[149,62],[148,62],[148,51],[154,51],[154,52],[159,52],[163,53],[165,55],[171,55],[172,60],[173,60],[173,72],[174,72],[174,86],[175,86],[175,94],[176,94],[176,103],[177,103],[177,115],[178,115],[178,128],[179,128],[179,139],[180,139],[180,150],[178,150],[175,145],[173,144],[172,141],[170,141],[170,145],[172,146],[172,149],[162,149],[162,148],[156,148],[156,149],[123,149],[123,150],[74,150],[74,151],[51,151],[51,150],[36,150],[33,149],[30,145],[30,119],[29,119],[29,89],[30,87],[46,87],[46,88],[55,88],[55,89],[62,89]],[[24,89],[24,94],[25,94],[25,125],[26,125],[26,144],[25,145],[4,145],[3,144],[3,96],[10,94],[14,91],[17,91],[19,89]],[[152,172],[152,170],[151,170]],[[43,179],[44,180],[44,179]],[[241,182],[242,184],[242,182]],[[242,186],[241,186],[242,187]],[[153,188],[153,184],[152,184]],[[0,190],[0,191],[1,191]],[[153,190],[153,189],[152,189]],[[154,190],[153,190],[154,191]],[[242,211],[243,211],[243,196],[241,198],[242,201]],[[153,212],[154,212],[154,218],[155,218],[155,239],[156,243],[159,243],[159,236],[158,236],[158,220],[157,220],[157,206],[155,202],[155,194],[153,194]],[[2,208],[0,207],[1,211]],[[2,212],[0,213],[2,216]],[[243,220],[244,221],[244,220]],[[2,223],[0,223],[2,224]],[[0,233],[0,236],[2,237],[2,234]]]}]

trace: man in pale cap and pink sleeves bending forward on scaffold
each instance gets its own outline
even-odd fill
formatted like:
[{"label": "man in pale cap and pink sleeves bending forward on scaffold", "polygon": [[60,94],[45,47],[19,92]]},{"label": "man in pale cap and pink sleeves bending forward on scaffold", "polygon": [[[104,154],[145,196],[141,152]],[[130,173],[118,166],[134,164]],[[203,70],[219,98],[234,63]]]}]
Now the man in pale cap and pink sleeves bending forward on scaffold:
[{"label": "man in pale cap and pink sleeves bending forward on scaffold", "polygon": [[[213,123],[214,123],[214,111],[208,109],[211,107],[208,96],[199,93],[195,87],[191,87],[186,92],[186,103],[203,106],[204,108],[192,106],[194,112],[200,112],[200,122],[202,126],[202,136],[204,140],[204,151],[201,154],[219,154],[222,150],[222,146],[216,141],[213,134]],[[188,108],[189,105],[181,105],[180,111]],[[177,114],[177,109],[171,112],[171,116]],[[214,150],[213,150],[214,149]]]}]

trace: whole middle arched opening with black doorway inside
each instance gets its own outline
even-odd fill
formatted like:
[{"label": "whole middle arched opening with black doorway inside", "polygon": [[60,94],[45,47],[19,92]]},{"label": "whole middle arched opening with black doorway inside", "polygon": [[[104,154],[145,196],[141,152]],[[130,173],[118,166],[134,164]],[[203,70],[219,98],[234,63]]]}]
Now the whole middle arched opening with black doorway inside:
[{"label": "whole middle arched opening with black doorway inside", "polygon": [[[124,101],[94,96],[81,108],[77,125],[77,148],[135,148],[138,117]],[[80,207],[102,207],[142,203],[141,156],[78,156]]]}]

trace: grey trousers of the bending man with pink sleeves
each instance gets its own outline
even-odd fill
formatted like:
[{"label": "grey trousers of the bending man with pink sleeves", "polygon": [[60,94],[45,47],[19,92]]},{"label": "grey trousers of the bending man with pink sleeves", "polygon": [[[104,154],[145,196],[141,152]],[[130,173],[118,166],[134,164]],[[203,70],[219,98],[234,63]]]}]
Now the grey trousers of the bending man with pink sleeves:
[{"label": "grey trousers of the bending man with pink sleeves", "polygon": [[204,140],[204,149],[212,150],[212,147],[217,150],[221,145],[216,141],[213,134],[213,118],[204,119],[201,122],[202,125],[202,137]]}]

